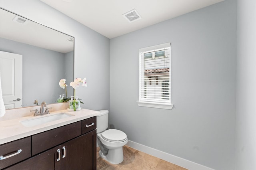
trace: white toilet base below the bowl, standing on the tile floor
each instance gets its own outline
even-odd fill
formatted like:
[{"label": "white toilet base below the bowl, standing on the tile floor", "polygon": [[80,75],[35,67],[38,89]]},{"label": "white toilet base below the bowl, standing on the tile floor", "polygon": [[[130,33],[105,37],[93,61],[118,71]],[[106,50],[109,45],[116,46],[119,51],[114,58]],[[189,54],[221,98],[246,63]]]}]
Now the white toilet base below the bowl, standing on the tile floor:
[{"label": "white toilet base below the bowl, standing on the tile floor", "polygon": [[101,150],[99,154],[100,157],[110,162],[111,164],[120,164],[124,160],[123,147],[109,149],[106,156],[101,152]]}]

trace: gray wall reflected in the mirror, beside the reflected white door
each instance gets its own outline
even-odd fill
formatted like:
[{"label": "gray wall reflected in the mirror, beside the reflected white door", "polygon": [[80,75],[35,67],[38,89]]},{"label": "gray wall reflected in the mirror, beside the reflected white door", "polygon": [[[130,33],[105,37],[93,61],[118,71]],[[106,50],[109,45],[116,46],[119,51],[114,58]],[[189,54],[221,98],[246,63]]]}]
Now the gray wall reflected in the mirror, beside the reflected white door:
[{"label": "gray wall reflected in the mirror, beside the reflected white door", "polygon": [[22,107],[33,106],[35,99],[57,102],[63,94],[58,83],[64,77],[64,53],[4,38],[0,38],[0,50],[22,55]]}]

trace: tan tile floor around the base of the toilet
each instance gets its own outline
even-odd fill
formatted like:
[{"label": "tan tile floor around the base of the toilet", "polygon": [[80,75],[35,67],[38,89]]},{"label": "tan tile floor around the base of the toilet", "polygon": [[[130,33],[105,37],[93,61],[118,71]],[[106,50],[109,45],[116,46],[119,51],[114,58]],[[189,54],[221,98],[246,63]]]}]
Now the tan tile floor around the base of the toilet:
[{"label": "tan tile floor around the base of the toilet", "polygon": [[114,165],[102,159],[99,150],[97,147],[97,170],[186,170],[126,145],[123,147],[124,161]]}]

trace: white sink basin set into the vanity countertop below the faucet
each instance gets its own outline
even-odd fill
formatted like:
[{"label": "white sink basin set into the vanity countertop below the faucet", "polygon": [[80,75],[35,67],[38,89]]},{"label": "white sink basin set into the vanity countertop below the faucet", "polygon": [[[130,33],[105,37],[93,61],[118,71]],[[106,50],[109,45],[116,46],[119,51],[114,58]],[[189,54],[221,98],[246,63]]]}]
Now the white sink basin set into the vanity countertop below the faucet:
[{"label": "white sink basin set into the vanity countertop below the faucet", "polygon": [[33,127],[33,126],[36,126],[36,125],[42,125],[44,123],[57,121],[57,120],[60,120],[60,119],[71,117],[71,116],[74,116],[74,115],[70,115],[70,114],[67,114],[67,113],[59,113],[59,114],[56,114],[56,115],[37,116],[34,119],[20,121],[20,123],[22,125],[24,125],[25,127]]}]

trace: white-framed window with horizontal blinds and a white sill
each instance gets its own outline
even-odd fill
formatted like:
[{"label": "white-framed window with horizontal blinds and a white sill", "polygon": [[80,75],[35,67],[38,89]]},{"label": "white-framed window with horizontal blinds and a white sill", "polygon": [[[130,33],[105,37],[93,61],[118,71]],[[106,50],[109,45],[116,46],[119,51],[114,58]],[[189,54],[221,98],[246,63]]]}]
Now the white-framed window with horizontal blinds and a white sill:
[{"label": "white-framed window with horizontal blinds and a white sill", "polygon": [[140,49],[139,106],[172,109],[170,43]]}]

